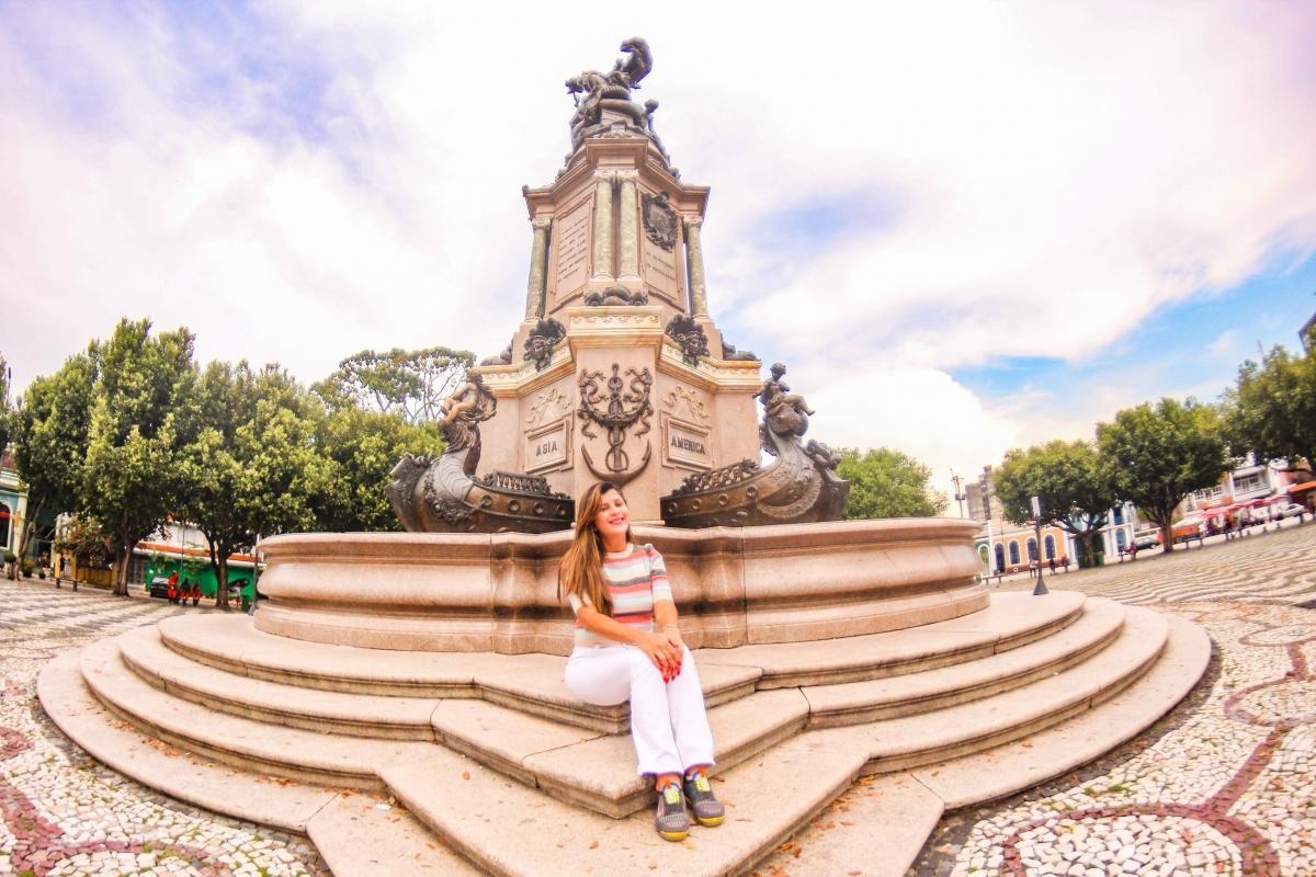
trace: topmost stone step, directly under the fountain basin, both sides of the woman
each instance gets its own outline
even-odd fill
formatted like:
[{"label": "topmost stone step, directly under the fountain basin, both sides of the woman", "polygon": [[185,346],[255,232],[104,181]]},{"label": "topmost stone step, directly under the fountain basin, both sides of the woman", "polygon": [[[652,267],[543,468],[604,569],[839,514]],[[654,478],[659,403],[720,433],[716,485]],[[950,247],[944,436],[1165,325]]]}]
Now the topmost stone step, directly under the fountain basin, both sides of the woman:
[{"label": "topmost stone step, directly under the fountain basin, both sides of the woman", "polygon": [[[988,609],[923,627],[817,643],[699,651],[709,706],[755,689],[886,678],[986,657],[1046,639],[1082,615],[1084,597],[995,594]],[[624,734],[629,707],[582,703],[551,655],[387,652],[290,640],[257,631],[247,617],[180,615],[159,625],[174,651],[203,664],[296,688],[418,698],[480,697],[532,715]],[[404,655],[400,660],[400,655]],[[234,656],[241,656],[236,659]],[[182,688],[182,686],[180,686]],[[217,698],[222,702],[224,698]],[[863,721],[862,714],[854,721]],[[840,719],[837,719],[840,721]]]}]

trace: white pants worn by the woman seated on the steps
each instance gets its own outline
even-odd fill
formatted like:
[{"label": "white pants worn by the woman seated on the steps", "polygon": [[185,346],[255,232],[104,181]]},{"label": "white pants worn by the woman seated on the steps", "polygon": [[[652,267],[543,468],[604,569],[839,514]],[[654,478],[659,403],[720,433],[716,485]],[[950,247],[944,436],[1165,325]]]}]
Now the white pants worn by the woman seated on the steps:
[{"label": "white pants worn by the woman seated on the steps", "polygon": [[630,739],[640,773],[684,773],[713,764],[713,732],[704,710],[695,659],[684,650],[680,676],[670,682],[634,646],[578,648],[567,659],[567,689],[586,703],[630,701]]}]

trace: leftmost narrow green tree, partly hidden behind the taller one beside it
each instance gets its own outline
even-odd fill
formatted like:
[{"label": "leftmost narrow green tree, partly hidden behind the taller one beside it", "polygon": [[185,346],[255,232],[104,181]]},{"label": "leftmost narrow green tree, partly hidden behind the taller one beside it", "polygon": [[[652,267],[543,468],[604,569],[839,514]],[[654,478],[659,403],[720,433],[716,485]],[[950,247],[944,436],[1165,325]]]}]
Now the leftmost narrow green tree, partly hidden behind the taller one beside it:
[{"label": "leftmost narrow green tree, partly hidden behind the taller one beside it", "polygon": [[91,358],[86,354],[70,356],[54,375],[32,381],[11,417],[14,465],[28,485],[28,521],[20,534],[20,557],[26,555],[43,511],[79,508],[95,381]]}]

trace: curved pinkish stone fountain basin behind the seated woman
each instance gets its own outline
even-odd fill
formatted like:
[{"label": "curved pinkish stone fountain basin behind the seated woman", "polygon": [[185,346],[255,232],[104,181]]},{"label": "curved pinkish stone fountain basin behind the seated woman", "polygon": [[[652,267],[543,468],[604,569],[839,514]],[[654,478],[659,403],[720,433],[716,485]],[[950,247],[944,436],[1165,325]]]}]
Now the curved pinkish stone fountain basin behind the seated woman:
[{"label": "curved pinkish stone fountain basin behind the seated woman", "polygon": [[[766,527],[636,526],[667,561],[692,648],[903,630],[987,607],[978,525],[895,518]],[[558,597],[570,531],[288,534],[261,542],[257,628],[400,651],[571,651]]]}]

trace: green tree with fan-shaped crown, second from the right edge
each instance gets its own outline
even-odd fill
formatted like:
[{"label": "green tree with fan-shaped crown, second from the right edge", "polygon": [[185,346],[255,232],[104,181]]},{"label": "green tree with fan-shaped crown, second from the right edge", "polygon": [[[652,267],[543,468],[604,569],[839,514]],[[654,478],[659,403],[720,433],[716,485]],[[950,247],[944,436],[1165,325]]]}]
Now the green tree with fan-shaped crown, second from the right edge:
[{"label": "green tree with fan-shaped crown, second from the right edge", "polygon": [[1192,398],[1126,408],[1098,425],[1096,442],[1120,497],[1157,522],[1166,551],[1175,508],[1229,469],[1219,412]]}]

